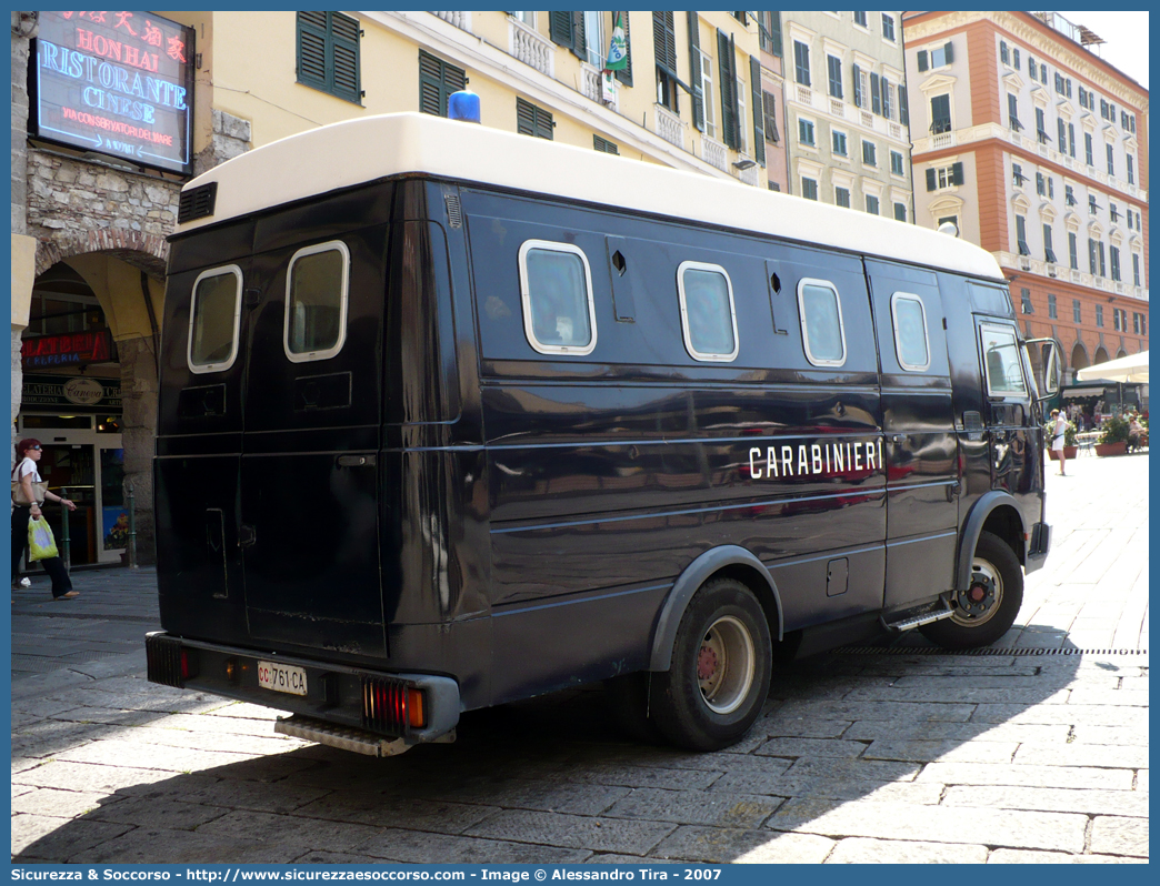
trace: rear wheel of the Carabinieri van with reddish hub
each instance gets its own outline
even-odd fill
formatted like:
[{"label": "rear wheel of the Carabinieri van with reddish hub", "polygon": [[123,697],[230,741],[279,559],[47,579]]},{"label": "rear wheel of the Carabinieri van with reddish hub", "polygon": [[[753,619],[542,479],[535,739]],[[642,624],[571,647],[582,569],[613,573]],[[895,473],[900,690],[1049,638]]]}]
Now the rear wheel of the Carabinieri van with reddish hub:
[{"label": "rear wheel of the Carabinieri van with reddish hub", "polygon": [[769,695],[773,644],[745,584],[705,582],[689,601],[669,669],[653,674],[650,719],[669,742],[717,750],[738,741]]}]

